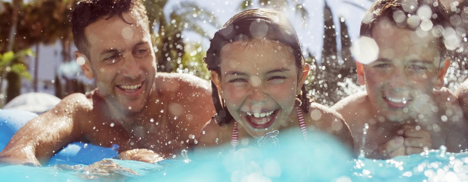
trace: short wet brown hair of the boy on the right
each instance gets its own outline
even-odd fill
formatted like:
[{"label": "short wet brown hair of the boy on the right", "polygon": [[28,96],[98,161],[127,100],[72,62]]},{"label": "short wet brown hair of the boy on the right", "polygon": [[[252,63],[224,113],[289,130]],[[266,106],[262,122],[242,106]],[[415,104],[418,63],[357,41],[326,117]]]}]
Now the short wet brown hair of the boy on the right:
[{"label": "short wet brown hair of the boy on the right", "polygon": [[[421,15],[424,13],[426,15]],[[441,58],[447,56],[443,31],[451,26],[447,11],[439,0],[377,0],[366,12],[359,35],[372,37],[373,28],[378,26],[380,21],[413,31],[427,31],[438,38],[436,49],[440,51]]]}]

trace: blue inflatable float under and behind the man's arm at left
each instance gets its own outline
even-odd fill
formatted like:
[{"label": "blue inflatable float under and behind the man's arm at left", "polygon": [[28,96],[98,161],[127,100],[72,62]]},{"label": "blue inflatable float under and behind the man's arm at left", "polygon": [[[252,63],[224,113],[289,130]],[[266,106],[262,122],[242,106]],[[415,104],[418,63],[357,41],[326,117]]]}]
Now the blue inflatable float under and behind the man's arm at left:
[{"label": "blue inflatable float under and behind the man's arm at left", "polygon": [[[36,116],[37,114],[29,111],[0,109],[0,151],[7,146],[16,131]],[[83,142],[73,142],[52,156],[45,166],[89,165],[104,158],[117,158],[118,147],[115,144],[106,148]]]}]

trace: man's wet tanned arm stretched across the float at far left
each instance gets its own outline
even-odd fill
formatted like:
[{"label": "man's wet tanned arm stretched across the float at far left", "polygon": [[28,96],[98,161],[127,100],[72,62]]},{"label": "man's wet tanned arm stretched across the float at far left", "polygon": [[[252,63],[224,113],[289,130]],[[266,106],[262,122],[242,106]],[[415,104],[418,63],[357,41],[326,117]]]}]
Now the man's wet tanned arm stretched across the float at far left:
[{"label": "man's wet tanned arm stretched across the float at far left", "polygon": [[46,163],[61,147],[80,138],[82,132],[76,121],[84,119],[91,109],[85,95],[67,96],[16,132],[0,153],[0,163],[33,166]]}]

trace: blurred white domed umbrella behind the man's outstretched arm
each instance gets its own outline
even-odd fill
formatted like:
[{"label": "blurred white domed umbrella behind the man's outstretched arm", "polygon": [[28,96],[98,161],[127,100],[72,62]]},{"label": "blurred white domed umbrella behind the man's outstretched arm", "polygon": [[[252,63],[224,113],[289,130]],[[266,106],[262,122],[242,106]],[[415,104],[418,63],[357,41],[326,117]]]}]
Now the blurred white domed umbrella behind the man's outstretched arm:
[{"label": "blurred white domed umbrella behind the man's outstretched arm", "polygon": [[52,109],[60,102],[60,99],[54,95],[30,92],[18,95],[8,102],[3,109],[19,109],[41,114]]}]

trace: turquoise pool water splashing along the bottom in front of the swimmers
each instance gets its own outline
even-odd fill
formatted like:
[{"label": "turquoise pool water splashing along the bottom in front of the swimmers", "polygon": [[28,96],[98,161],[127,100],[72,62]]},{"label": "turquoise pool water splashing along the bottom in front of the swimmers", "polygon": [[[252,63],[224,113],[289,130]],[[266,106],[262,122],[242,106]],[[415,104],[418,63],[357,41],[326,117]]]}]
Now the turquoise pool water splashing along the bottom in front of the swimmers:
[{"label": "turquoise pool water splashing along the bottom in front of the swimmers", "polygon": [[[278,151],[249,146],[237,151],[212,149],[187,159],[157,164],[105,159],[94,164],[54,167],[0,167],[1,181],[79,182],[190,181],[190,182],[457,182],[468,181],[468,153],[439,150],[391,160],[352,159],[351,154],[321,133],[309,134],[310,145],[282,139]],[[227,146],[229,147],[229,146]],[[208,156],[208,157],[206,157]]]}]

